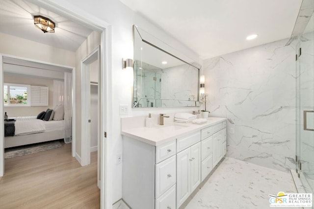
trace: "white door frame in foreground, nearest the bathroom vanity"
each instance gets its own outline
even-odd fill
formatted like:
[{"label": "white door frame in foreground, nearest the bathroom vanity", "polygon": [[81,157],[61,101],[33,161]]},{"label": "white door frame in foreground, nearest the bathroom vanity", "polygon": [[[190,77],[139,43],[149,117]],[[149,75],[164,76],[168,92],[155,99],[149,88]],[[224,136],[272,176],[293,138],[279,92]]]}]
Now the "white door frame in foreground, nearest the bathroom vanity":
[{"label": "white door frame in foreground, nearest the bathroom vanity", "polygon": [[[80,9],[67,1],[58,1],[58,4],[52,0],[28,0],[38,6],[49,9],[52,12],[60,14],[72,21],[87,24],[95,30],[101,31],[101,65],[100,65],[100,81],[101,81],[101,133],[106,133],[106,137],[102,134],[101,141],[101,209],[112,208],[112,169],[111,169],[111,141],[112,138],[112,26],[111,24],[95,17],[94,15]],[[1,61],[1,60],[0,60]],[[2,76],[2,75],[0,75]],[[3,83],[3,76],[0,77]],[[75,81],[75,80],[74,80]],[[3,91],[3,85],[0,91]],[[3,95],[2,95],[3,97]],[[1,99],[1,96],[0,96]],[[3,99],[3,98],[2,98]],[[3,110],[2,110],[3,112]],[[1,114],[1,111],[0,111]],[[3,115],[3,114],[2,114]],[[74,121],[75,122],[75,121]],[[2,122],[3,124],[3,122]],[[0,122],[1,125],[1,122]],[[2,133],[3,134],[3,133]],[[0,143],[1,145],[1,143]],[[1,151],[0,151],[1,152]],[[3,154],[3,153],[2,153]],[[1,155],[1,153],[0,153]],[[3,163],[3,162],[2,162]],[[1,165],[0,165],[1,167]]]}]

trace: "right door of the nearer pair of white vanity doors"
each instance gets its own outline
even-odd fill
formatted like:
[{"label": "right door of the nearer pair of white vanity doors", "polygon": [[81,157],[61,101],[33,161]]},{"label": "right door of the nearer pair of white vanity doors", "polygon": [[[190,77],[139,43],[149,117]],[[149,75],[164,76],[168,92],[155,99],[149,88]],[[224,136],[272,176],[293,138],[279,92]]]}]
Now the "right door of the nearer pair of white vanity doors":
[{"label": "right door of the nearer pair of white vanity doors", "polygon": [[201,184],[201,142],[191,146],[191,190]]}]

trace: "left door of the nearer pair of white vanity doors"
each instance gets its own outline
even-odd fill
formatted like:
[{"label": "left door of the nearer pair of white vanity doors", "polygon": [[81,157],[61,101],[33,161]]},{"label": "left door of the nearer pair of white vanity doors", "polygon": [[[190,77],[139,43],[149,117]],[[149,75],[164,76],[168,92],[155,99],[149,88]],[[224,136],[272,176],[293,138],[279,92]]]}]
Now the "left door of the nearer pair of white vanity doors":
[{"label": "left door of the nearer pair of white vanity doors", "polygon": [[190,195],[190,148],[177,154],[177,208]]}]

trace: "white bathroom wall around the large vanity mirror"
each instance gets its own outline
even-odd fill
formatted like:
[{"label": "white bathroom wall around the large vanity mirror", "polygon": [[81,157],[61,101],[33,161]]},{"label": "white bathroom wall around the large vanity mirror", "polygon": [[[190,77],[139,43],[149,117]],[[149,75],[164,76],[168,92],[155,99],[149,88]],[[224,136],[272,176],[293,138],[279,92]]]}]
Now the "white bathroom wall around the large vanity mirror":
[{"label": "white bathroom wall around the large vanity mirror", "polygon": [[[109,121],[113,125],[113,133],[110,143],[112,143],[113,167],[113,202],[122,197],[122,166],[115,164],[116,154],[122,153],[122,136],[119,105],[128,104],[131,106],[131,86],[132,86],[132,71],[122,70],[122,58],[132,58],[132,25],[136,24],[146,31],[154,34],[154,36],[163,40],[167,44],[177,48],[188,57],[199,61],[196,53],[189,50],[182,43],[179,43],[173,37],[169,36],[165,31],[150,23],[143,17],[136,14],[130,8],[122,4],[119,0],[51,0],[66,9],[81,10],[81,14],[88,12],[101,20],[112,25],[112,85],[113,85],[113,121]],[[129,116],[148,115],[148,113],[173,113],[179,111],[197,110],[198,108],[147,108],[147,109],[130,109]]]}]

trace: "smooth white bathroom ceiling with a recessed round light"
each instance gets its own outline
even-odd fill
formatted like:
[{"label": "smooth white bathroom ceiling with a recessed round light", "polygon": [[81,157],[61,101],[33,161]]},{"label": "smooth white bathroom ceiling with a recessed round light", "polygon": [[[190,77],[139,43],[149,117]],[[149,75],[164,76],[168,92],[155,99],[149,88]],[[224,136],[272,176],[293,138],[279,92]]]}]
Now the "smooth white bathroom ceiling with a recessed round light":
[{"label": "smooth white bathroom ceiling with a recessed round light", "polygon": [[[302,3],[302,0],[120,1],[202,59],[289,38]],[[255,33],[258,38],[246,40]]]}]

